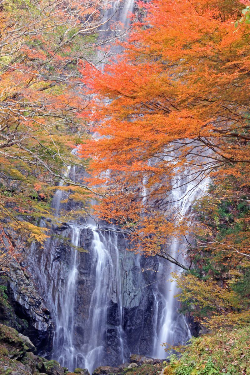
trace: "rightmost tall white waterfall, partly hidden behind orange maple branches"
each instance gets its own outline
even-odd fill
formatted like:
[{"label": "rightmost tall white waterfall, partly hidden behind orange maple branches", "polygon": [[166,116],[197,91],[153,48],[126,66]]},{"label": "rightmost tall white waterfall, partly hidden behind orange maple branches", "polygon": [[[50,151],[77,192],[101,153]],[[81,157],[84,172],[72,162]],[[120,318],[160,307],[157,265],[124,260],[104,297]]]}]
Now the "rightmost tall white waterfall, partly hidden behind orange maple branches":
[{"label": "rightmost tall white waterfall, partly hidden behind orange maple branches", "polygon": [[[174,212],[175,220],[187,217],[192,207],[193,201],[204,194],[207,180],[202,181],[199,175],[196,178],[189,177],[189,170],[179,172],[172,185],[169,194],[168,208]],[[186,243],[180,240],[171,239],[168,245],[168,253],[185,264]],[[154,315],[153,315],[153,357],[159,359],[166,358],[166,350],[170,345],[185,345],[191,338],[191,333],[183,315],[178,314],[178,302],[174,296],[178,293],[176,282],[171,280],[172,272],[182,270],[175,264],[171,264],[164,259],[159,261],[157,279],[154,287]],[[167,344],[166,347],[161,344]]]}]

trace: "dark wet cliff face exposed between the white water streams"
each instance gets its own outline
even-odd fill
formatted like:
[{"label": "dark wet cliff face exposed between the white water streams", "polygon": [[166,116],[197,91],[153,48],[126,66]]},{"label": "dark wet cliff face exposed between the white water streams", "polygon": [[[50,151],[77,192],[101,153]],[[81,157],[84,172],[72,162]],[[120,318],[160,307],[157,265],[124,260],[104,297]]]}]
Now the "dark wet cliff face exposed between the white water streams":
[{"label": "dark wet cliff face exposed between the white water streams", "polygon": [[[63,223],[60,227],[53,228],[51,233],[53,236],[48,240],[44,249],[40,249],[38,246],[26,249],[23,265],[31,275],[37,290],[46,298],[55,327],[55,318],[61,314],[61,309],[64,306],[63,291],[66,288],[70,270],[71,228],[67,223]],[[114,238],[112,234],[110,236],[111,242],[116,241],[118,244],[121,290],[120,292],[117,290],[118,275],[115,274],[107,307],[106,337],[103,342],[105,355],[100,364],[115,367],[124,360],[129,360],[131,352],[151,353],[150,346],[153,337],[151,284],[155,281],[156,275],[151,270],[156,269],[156,259],[140,257],[132,251],[127,251],[129,244],[123,234],[116,234],[117,237]],[[81,353],[82,346],[88,342],[90,337],[86,322],[89,318],[91,296],[96,283],[93,272],[92,242],[93,232],[91,229],[82,229],[79,247],[84,249],[84,252],[78,253],[73,327],[73,345],[78,353]],[[112,254],[111,250],[113,261],[116,256],[116,254]],[[119,293],[121,293],[120,297]],[[121,342],[117,335],[119,303],[122,303],[123,306],[123,356]],[[50,353],[42,351],[41,345],[37,341],[36,346],[38,354],[51,358],[51,351]],[[84,366],[84,363],[76,365]]]}]

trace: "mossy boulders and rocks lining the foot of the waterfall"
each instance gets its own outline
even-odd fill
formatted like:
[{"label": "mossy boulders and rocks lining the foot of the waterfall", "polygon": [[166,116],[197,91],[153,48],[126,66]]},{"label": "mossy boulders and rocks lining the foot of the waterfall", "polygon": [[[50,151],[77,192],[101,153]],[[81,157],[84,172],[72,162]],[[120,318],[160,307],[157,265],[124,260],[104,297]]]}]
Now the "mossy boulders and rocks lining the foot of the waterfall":
[{"label": "mossy boulders and rocks lining the foot of the waterfall", "polygon": [[[130,363],[117,367],[100,366],[93,375],[157,375],[161,374],[162,360],[133,354]],[[27,336],[14,328],[0,324],[0,375],[90,375],[87,369],[69,372],[55,360],[36,355],[36,348]]]}]

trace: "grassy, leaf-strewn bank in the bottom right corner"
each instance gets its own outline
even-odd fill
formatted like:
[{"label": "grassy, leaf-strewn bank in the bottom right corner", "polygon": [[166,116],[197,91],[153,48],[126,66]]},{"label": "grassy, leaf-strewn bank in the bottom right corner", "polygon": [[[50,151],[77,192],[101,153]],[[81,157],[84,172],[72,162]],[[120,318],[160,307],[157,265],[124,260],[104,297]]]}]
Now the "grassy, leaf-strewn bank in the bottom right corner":
[{"label": "grassy, leaf-strewn bank in the bottom right corner", "polygon": [[169,360],[164,375],[249,375],[250,326],[193,338],[180,359]]}]

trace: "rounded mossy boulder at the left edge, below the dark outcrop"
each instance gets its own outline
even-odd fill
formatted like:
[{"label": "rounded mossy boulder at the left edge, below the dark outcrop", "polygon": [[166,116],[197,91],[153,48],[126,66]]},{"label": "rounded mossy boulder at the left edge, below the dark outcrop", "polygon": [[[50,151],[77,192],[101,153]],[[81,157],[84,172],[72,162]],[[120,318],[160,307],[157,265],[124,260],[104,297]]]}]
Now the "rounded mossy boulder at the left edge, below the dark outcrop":
[{"label": "rounded mossy boulder at the left edge, below the dark outcrop", "polygon": [[0,345],[7,350],[7,357],[18,359],[29,350],[24,340],[19,337],[18,332],[11,327],[0,324]]}]

